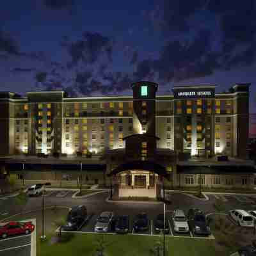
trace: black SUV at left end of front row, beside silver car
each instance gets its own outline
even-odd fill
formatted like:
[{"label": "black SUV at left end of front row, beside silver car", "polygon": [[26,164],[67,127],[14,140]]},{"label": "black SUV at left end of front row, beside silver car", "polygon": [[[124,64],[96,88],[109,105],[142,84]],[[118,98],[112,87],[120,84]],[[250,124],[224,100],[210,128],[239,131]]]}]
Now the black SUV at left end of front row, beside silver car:
[{"label": "black SUV at left end of front row, beside silver car", "polygon": [[76,205],[69,209],[67,223],[63,230],[78,230],[87,219],[87,209],[85,205]]}]

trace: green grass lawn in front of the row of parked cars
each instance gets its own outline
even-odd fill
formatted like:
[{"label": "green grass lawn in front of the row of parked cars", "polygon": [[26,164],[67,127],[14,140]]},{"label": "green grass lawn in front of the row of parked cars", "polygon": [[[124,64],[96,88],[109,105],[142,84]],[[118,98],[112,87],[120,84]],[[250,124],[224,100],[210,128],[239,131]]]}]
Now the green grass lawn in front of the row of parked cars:
[{"label": "green grass lawn in front of the row of parked cars", "polygon": [[[76,234],[66,243],[50,244],[51,236],[47,241],[41,242],[38,239],[36,244],[40,256],[51,255],[95,255],[96,238],[101,234]],[[143,256],[150,255],[150,248],[154,246],[158,237],[154,236],[122,236],[122,235],[104,235],[107,246],[106,255],[108,256]],[[166,247],[168,253],[166,256],[197,256],[197,255],[216,255],[214,241],[205,239],[189,239],[166,237]],[[220,256],[221,254],[218,253]]]}]

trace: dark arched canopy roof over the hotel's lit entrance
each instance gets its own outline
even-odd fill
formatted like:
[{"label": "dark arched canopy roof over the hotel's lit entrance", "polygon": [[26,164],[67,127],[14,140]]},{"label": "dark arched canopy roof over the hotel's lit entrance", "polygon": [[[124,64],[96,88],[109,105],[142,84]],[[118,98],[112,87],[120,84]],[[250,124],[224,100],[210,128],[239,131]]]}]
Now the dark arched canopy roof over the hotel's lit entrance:
[{"label": "dark arched canopy roof over the hotel's lit entrance", "polygon": [[166,168],[161,166],[160,164],[150,162],[150,161],[132,161],[124,164],[120,164],[116,167],[111,173],[108,173],[108,177],[112,175],[116,175],[120,172],[131,171],[131,170],[145,170],[148,172],[157,173],[160,176],[165,177],[166,179],[170,179],[168,173],[166,172]]}]

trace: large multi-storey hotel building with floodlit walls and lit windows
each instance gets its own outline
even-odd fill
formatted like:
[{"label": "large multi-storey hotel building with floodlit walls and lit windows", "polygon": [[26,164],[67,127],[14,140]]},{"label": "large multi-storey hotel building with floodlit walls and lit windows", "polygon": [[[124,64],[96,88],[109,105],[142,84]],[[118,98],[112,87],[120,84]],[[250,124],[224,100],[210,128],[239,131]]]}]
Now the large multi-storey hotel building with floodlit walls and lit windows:
[{"label": "large multi-storey hotel building with floodlit walls and lit windows", "polygon": [[[63,91],[28,92],[24,98],[1,92],[0,156],[80,152],[86,163],[88,154],[104,155],[107,173],[118,177],[127,175],[120,166],[137,163],[126,166],[128,178],[115,177],[119,188],[134,186],[132,168],[144,170],[147,163],[160,164],[159,175],[173,184],[194,185],[186,173],[177,173],[189,156],[206,162],[218,155],[246,158],[249,86],[235,84],[225,93],[215,93],[216,86],[175,86],[173,94],[157,95],[156,83],[141,81],[132,84],[132,96],[77,98]],[[156,186],[157,173],[146,176],[138,175],[137,184]]]}]

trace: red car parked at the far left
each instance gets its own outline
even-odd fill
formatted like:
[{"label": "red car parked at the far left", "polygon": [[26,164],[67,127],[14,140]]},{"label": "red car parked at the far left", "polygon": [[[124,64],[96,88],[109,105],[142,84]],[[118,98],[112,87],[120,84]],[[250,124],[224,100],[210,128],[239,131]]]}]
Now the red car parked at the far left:
[{"label": "red car parked at the far left", "polygon": [[8,236],[29,234],[35,230],[35,225],[31,221],[28,222],[17,222],[12,221],[4,226],[0,226],[0,236],[6,238]]}]

